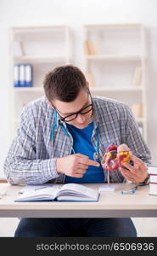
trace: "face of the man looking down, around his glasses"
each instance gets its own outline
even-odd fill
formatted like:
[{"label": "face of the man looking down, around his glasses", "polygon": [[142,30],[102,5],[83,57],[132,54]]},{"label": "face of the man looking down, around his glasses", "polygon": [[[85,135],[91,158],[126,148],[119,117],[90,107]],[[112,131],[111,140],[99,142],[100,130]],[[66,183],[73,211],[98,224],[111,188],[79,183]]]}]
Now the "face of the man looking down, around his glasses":
[{"label": "face of the man looking down, around his glasses", "polygon": [[[74,102],[60,102],[59,100],[53,100],[53,107],[56,108],[59,115],[64,118],[67,115],[80,111],[82,108],[86,108],[91,103],[92,100],[87,90],[82,89]],[[68,124],[83,129],[90,123],[92,113],[93,111],[85,114],[78,113],[76,119],[71,120]]]}]

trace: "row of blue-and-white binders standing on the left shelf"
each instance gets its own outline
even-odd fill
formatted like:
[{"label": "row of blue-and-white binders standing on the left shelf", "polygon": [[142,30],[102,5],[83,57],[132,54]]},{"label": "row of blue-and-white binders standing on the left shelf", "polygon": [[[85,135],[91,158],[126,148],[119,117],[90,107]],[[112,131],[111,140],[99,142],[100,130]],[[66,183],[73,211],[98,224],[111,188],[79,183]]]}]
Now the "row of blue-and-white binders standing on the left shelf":
[{"label": "row of blue-and-white binders standing on the left shelf", "polygon": [[32,87],[31,64],[14,65],[14,87]]}]

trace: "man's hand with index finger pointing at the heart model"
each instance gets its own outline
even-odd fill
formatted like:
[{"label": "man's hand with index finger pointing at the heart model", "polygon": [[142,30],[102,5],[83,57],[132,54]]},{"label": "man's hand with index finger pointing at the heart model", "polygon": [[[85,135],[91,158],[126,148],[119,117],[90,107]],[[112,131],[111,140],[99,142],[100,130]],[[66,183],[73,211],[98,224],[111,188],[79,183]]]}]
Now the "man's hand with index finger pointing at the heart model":
[{"label": "man's hand with index finger pointing at the heart model", "polygon": [[58,173],[64,173],[70,177],[83,177],[88,166],[100,166],[98,162],[90,160],[84,154],[70,154],[57,158],[56,168]]}]

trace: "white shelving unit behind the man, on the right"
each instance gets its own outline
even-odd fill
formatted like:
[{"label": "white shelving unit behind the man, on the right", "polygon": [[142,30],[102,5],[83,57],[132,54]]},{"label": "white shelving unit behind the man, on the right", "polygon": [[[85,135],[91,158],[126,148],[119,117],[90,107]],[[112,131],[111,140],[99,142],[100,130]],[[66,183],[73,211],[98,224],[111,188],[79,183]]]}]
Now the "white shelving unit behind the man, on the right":
[{"label": "white shelving unit behind the man, on the right", "polygon": [[147,141],[145,27],[86,25],[83,37],[84,72],[92,94],[129,104]]}]

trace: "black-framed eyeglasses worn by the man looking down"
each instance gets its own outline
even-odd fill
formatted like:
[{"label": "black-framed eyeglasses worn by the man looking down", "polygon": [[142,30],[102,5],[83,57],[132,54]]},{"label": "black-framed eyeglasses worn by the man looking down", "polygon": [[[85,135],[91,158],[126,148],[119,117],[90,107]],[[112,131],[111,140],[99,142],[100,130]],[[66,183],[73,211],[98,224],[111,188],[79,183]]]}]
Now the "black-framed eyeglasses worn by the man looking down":
[{"label": "black-framed eyeglasses worn by the man looking down", "polygon": [[[91,101],[92,103],[87,105],[86,107],[84,108],[81,108],[81,110],[77,111],[76,113],[70,113],[68,114],[67,116],[63,117],[59,114],[59,116],[61,117],[61,120],[68,123],[70,121],[73,121],[74,119],[77,118],[78,114],[86,114],[86,113],[89,113],[91,111],[93,111],[93,99],[92,99],[92,96],[91,96],[91,93],[90,93],[90,90],[88,90],[88,94],[89,96],[91,97]],[[54,107],[53,107],[54,108]],[[54,108],[58,113],[59,113],[59,110],[57,108]]]}]

